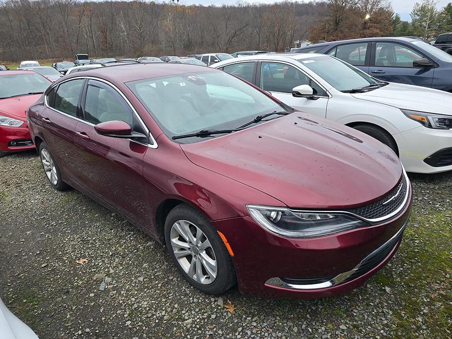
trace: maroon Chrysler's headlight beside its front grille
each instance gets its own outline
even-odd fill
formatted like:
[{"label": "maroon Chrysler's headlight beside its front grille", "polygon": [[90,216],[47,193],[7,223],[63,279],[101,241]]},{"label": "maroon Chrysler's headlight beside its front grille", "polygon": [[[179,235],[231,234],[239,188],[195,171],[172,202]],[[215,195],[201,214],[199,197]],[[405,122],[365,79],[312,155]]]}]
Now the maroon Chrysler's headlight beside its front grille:
[{"label": "maroon Chrysler's headlight beside its front grille", "polygon": [[259,225],[272,233],[293,238],[324,236],[359,227],[366,221],[341,213],[295,212],[286,208],[247,205]]}]

